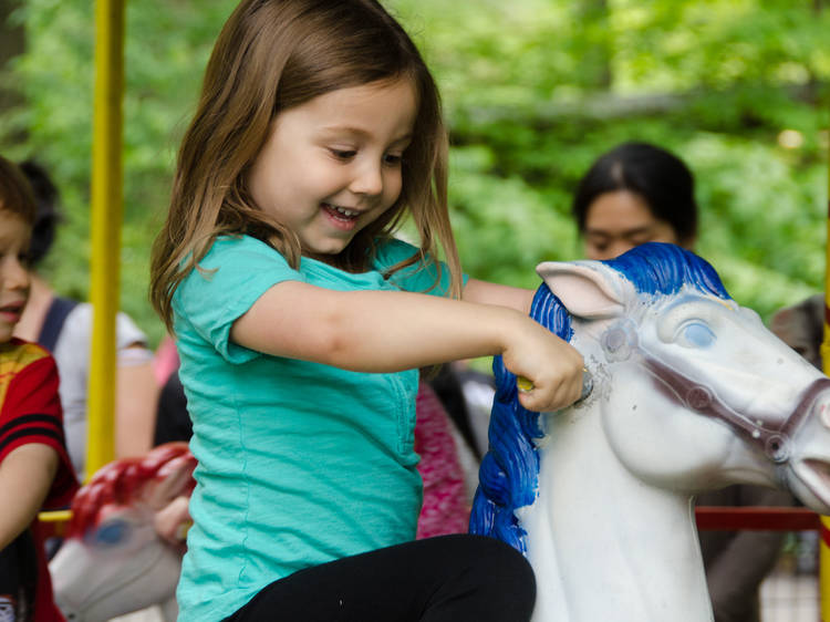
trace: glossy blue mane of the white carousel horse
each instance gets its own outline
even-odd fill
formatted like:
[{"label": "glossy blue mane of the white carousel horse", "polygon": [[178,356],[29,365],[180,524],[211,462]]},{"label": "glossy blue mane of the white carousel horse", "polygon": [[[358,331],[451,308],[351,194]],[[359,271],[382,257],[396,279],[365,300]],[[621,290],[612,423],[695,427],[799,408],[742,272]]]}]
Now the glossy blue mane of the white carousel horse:
[{"label": "glossy blue mane of the white carousel horse", "polygon": [[[674,245],[645,243],[602,263],[631,281],[639,293],[672,296],[684,284],[691,284],[703,293],[730,298],[712,266]],[[573,336],[568,310],[544,283],[536,292],[530,317],[566,341]],[[496,396],[490,414],[489,449],[479,468],[469,531],[491,536],[526,552],[526,531],[516,510],[536,501],[539,454],[533,439],[544,433],[539,413],[519,404],[516,376],[507,371],[501,356],[494,360],[492,371]]]}]

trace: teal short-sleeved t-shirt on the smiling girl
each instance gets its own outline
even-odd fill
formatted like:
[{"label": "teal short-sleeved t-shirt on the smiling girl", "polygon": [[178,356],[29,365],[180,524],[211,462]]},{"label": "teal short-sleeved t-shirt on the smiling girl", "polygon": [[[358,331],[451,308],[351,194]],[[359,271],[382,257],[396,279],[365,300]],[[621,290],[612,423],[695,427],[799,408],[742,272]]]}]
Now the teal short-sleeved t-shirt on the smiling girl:
[{"label": "teal short-sleeved t-shirt on the smiling girl", "polygon": [[[281,281],[341,291],[429,290],[434,265],[383,278],[385,268],[415,252],[394,240],[367,272],[308,258],[293,270],[255,238],[222,237],[199,263],[204,270],[177,288],[179,373],[198,459],[177,590],[180,622],[221,620],[297,570],[415,537],[418,372],[350,372],[229,341],[234,321]],[[447,291],[448,270],[442,272],[428,293]]]}]

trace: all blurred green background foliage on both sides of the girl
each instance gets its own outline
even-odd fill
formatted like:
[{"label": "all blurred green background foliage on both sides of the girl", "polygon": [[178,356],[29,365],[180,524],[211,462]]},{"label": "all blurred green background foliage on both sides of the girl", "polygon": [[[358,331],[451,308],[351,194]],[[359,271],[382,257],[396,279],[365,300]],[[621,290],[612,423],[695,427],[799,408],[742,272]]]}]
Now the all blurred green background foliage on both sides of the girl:
[{"label": "all blurred green background foliage on both sides of the girl", "polygon": [[[452,217],[471,274],[533,287],[574,259],[572,190],[626,139],[664,145],[697,178],[698,251],[764,317],[822,287],[830,7],[789,0],[388,0],[422,48],[450,122]],[[48,266],[85,296],[93,2],[23,0],[25,97],[0,151],[34,156],[63,191]],[[122,304],[154,339],[149,243],[177,142],[232,0],[127,3]],[[823,106],[823,107],[822,107]],[[23,132],[24,134],[21,134]],[[24,138],[20,138],[24,135]],[[60,259],[58,259],[60,258]]]}]

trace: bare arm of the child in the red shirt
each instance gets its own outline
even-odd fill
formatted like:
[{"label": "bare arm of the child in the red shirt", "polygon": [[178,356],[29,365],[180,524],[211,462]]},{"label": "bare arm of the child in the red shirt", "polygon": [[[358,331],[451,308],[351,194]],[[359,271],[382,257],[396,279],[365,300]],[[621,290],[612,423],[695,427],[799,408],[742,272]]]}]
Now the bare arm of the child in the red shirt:
[{"label": "bare arm of the child in the red shirt", "polygon": [[58,452],[41,443],[21,445],[0,463],[0,550],[32,522],[56,471]]}]

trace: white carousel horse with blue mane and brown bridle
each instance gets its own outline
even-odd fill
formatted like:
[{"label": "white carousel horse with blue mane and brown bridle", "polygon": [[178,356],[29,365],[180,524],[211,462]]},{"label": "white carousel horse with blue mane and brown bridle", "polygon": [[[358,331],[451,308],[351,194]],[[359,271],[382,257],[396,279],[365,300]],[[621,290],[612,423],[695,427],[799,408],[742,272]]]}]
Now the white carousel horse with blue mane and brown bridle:
[{"label": "white carousel horse with blue mane and brown bridle", "polygon": [[830,512],[830,379],[678,247],[537,270],[531,315],[593,391],[531,413],[495,361],[470,531],[526,554],[535,622],[713,620],[692,499],[755,484]]}]

